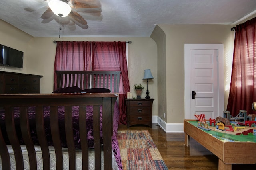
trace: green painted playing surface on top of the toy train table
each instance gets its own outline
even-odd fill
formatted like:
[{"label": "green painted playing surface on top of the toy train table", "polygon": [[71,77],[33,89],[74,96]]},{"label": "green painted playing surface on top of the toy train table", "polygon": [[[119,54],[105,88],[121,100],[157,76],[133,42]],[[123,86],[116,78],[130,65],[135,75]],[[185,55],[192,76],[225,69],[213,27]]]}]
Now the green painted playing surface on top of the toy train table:
[{"label": "green painted playing surface on top of the toy train table", "polygon": [[[197,121],[188,121],[188,122],[197,127]],[[209,122],[207,123],[209,124]],[[256,136],[254,135],[230,135],[230,134],[221,133],[213,130],[210,130],[210,131],[207,131],[204,129],[201,129],[201,130],[225,142],[255,142],[256,143]]]}]

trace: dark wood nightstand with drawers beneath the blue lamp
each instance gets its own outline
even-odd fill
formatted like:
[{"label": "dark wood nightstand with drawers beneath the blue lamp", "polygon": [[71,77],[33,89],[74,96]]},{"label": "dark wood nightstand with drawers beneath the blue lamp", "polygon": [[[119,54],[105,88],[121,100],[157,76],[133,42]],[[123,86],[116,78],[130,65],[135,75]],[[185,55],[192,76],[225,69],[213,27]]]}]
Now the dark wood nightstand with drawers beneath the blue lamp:
[{"label": "dark wood nightstand with drawers beneath the blue lamp", "polygon": [[126,99],[127,127],[132,125],[148,125],[152,127],[152,104],[154,99]]}]

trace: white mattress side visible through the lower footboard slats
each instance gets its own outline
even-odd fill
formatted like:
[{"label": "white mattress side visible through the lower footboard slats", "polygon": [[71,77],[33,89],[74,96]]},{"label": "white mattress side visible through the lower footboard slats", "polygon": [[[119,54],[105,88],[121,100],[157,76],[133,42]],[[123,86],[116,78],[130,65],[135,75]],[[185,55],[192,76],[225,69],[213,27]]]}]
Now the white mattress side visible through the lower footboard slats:
[{"label": "white mattress side visible through the lower footboard slats", "polygon": [[[28,159],[28,152],[26,151],[26,146],[22,145],[22,154],[23,154],[23,159],[24,159],[24,170],[29,170],[29,159]],[[68,170],[68,150],[66,148],[63,148],[63,169]],[[8,151],[10,154],[10,159],[11,159],[11,169],[15,170],[16,169],[16,163],[15,163],[15,157],[14,153],[12,150],[12,147],[8,145]],[[42,160],[42,152],[41,148],[39,146],[35,146],[35,151],[36,151],[36,160],[37,160],[37,169],[41,170],[43,169],[43,160]],[[50,168],[51,170],[56,169],[56,158],[55,158],[55,152],[54,152],[54,147],[49,147],[50,151]],[[103,151],[101,154],[101,169],[104,169],[104,160],[103,160]],[[89,149],[89,170],[94,170],[94,149]],[[112,168],[113,170],[118,170],[118,165],[116,163],[116,158],[113,154],[112,151]],[[2,160],[0,159],[0,169],[2,169]],[[80,150],[76,151],[76,169],[77,170],[82,170],[82,152]]]}]

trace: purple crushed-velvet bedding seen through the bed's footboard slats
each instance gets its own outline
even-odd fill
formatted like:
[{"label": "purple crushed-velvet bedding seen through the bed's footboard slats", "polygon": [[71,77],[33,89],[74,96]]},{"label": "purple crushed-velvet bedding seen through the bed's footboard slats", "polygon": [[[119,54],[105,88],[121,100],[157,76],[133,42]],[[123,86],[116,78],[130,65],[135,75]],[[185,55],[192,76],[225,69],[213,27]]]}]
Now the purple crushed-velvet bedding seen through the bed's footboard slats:
[{"label": "purple crushed-velvet bedding seen through the bed's footboard slats", "polygon": [[[94,139],[93,139],[93,108],[92,106],[86,106],[86,123],[87,123],[87,139],[88,139],[88,147],[92,148],[94,147]],[[24,144],[21,131],[20,131],[20,118],[19,118],[19,108],[15,108],[14,112],[14,120],[16,125],[16,133],[18,136],[18,139],[20,140],[20,144]],[[76,148],[81,148],[80,145],[80,135],[79,135],[79,107],[73,106],[73,133],[74,133],[74,142]],[[58,106],[58,120],[59,120],[59,129],[65,129],[64,124],[64,107]],[[10,142],[7,137],[6,128],[5,128],[5,115],[4,110],[0,110],[0,127],[2,131],[2,135],[4,137],[4,140],[6,141],[6,144],[9,145]],[[121,156],[120,156],[120,150],[118,146],[118,140],[116,138],[117,135],[117,128],[118,128],[118,122],[119,122],[119,110],[118,110],[118,104],[115,103],[114,108],[114,119],[113,119],[113,136],[112,136],[112,150],[114,152],[114,155],[116,157],[116,162],[118,164],[119,169],[122,169],[122,163],[121,163]],[[30,123],[30,132],[31,137],[33,139],[34,145],[39,145],[37,134],[36,134],[36,125],[35,125],[35,107],[29,108],[29,123]],[[52,142],[52,136],[50,133],[50,107],[45,106],[44,107],[44,126],[45,126],[45,133],[48,141],[49,146],[53,146]],[[102,138],[102,106],[100,106],[100,137]],[[66,134],[65,131],[60,130],[60,138],[62,147],[66,148]]]}]

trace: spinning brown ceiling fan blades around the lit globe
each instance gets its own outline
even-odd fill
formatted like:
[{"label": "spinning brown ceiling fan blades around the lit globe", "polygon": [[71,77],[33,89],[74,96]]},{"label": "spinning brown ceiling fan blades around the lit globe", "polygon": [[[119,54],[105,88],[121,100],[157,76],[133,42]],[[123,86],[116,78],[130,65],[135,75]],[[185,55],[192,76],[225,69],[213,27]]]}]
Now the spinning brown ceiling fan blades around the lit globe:
[{"label": "spinning brown ceiling fan blades around the lit globe", "polygon": [[[50,21],[55,20],[61,25],[68,25],[70,30],[76,29],[75,24],[82,29],[87,29],[88,25],[86,19],[102,21],[102,10],[99,0],[60,0],[71,7],[71,12],[68,16],[62,17],[61,20],[60,17],[55,15],[49,8],[48,3],[50,1],[52,0],[34,0],[32,3],[30,1],[30,7],[25,8],[25,10],[34,12],[39,10],[39,8],[46,8],[45,12],[40,17],[42,19],[42,23],[49,23]],[[84,16],[84,18],[79,13]]]}]

